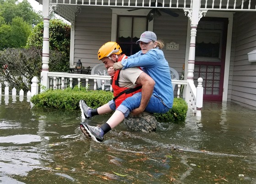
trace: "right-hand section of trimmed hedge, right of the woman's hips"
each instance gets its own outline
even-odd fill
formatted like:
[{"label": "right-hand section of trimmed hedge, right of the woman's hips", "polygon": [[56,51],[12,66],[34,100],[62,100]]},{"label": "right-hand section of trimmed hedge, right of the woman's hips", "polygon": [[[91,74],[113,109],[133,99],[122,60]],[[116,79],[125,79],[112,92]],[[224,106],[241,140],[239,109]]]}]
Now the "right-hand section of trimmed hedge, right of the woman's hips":
[{"label": "right-hand section of trimmed hedge, right of the woman's hips", "polygon": [[187,116],[187,102],[182,98],[174,98],[173,106],[169,112],[164,114],[154,113],[155,118],[161,122],[184,121]]}]

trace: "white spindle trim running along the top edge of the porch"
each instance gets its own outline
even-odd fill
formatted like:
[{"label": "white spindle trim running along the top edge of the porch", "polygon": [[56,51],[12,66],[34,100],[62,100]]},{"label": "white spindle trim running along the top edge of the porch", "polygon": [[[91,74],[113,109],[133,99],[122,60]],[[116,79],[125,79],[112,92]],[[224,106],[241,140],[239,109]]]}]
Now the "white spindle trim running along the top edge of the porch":
[{"label": "white spindle trim running along the top edge of the porch", "polygon": [[[51,5],[112,6],[119,8],[192,8],[193,0],[50,0]],[[60,7],[59,7],[60,8]],[[57,7],[58,9],[58,7]],[[201,10],[256,10],[254,0],[200,0]]]}]

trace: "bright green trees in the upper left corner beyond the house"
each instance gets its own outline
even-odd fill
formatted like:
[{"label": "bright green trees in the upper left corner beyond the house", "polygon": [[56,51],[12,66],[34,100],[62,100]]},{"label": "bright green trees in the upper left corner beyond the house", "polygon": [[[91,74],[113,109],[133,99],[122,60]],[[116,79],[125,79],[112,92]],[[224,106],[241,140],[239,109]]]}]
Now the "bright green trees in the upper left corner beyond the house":
[{"label": "bright green trees in the upper left corner beyond the house", "polygon": [[32,26],[41,21],[27,0],[0,0],[0,50],[26,46]]}]

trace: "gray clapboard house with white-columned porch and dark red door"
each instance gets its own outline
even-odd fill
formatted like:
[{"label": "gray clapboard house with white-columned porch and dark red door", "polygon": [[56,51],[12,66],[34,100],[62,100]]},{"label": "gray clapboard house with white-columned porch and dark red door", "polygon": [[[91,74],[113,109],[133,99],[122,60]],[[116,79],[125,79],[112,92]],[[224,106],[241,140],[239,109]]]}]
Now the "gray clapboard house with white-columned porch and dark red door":
[{"label": "gray clapboard house with white-columned porch and dark red door", "polygon": [[133,54],[140,34],[154,31],[165,42],[170,67],[181,76],[185,66],[184,80],[195,86],[203,78],[204,100],[256,107],[256,0],[37,2],[43,4],[41,83],[46,86],[49,12],[54,11],[71,23],[70,66],[78,59],[85,67],[99,64],[97,51],[107,41],[117,41],[127,55]]}]

